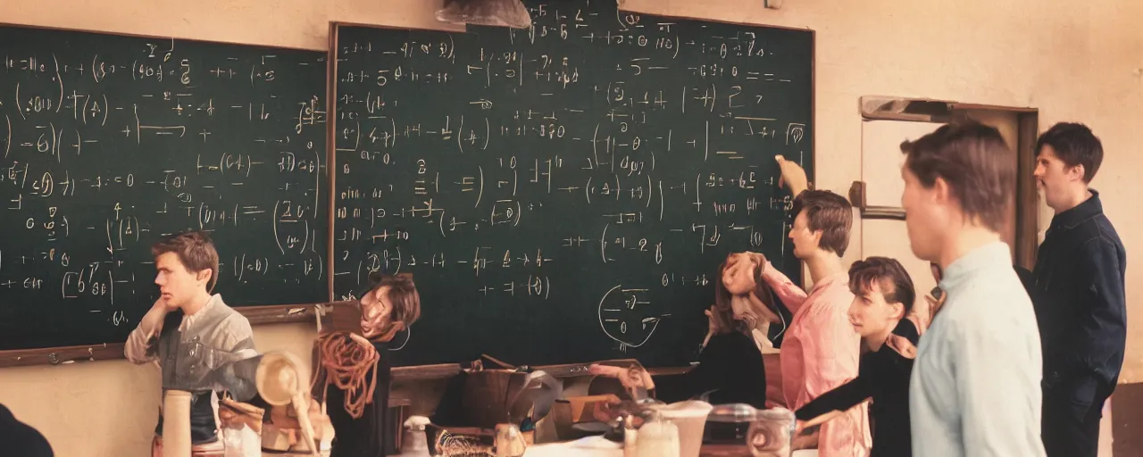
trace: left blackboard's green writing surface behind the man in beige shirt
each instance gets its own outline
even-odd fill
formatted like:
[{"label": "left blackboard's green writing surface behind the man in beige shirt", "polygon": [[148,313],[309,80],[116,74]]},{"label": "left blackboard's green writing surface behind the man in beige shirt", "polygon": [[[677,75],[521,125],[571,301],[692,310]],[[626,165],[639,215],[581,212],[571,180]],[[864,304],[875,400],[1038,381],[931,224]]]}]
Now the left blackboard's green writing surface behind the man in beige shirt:
[{"label": "left blackboard's green writing surface behind the man in beige shirt", "polygon": [[0,350],[125,340],[187,228],[230,305],[327,300],[325,56],[0,27]]}]

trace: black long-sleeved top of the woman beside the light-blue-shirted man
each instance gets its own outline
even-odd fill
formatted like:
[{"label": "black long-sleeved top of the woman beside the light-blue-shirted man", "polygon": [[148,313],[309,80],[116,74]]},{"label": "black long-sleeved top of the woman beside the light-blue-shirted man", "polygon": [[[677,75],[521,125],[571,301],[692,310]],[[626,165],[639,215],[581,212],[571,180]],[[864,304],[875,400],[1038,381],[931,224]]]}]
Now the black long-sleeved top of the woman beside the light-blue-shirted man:
[{"label": "black long-sleeved top of the woman beside the light-blue-shirted man", "polygon": [[[901,320],[893,332],[917,345],[917,327],[912,321]],[[910,457],[909,376],[912,369],[913,359],[884,344],[876,352],[862,354],[855,379],[806,403],[794,415],[809,420],[830,411],[845,411],[872,398],[869,411],[873,423],[873,450],[870,457]]]}]

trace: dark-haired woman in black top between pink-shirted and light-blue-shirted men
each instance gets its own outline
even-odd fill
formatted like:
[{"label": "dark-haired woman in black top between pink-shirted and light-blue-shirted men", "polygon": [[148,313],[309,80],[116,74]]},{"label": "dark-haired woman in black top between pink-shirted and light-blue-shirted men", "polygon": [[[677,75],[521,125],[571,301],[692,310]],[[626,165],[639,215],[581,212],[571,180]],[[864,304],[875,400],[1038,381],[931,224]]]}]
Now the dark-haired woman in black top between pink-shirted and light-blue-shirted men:
[{"label": "dark-haired woman in black top between pink-shirted and light-blue-shirted men", "polygon": [[917,297],[913,282],[897,260],[870,257],[849,268],[849,288],[856,296],[849,322],[864,346],[857,377],[801,407],[799,433],[872,398],[870,457],[910,457],[909,376],[920,337],[905,318]]}]

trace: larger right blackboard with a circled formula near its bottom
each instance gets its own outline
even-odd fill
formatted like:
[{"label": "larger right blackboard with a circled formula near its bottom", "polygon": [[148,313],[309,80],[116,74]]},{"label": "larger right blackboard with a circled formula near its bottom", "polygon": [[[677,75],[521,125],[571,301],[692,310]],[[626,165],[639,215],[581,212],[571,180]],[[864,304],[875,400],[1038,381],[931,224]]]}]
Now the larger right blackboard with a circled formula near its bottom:
[{"label": "larger right blackboard with a circled formula near its bottom", "polygon": [[774,155],[813,173],[813,33],[526,3],[337,29],[335,294],[414,273],[399,364],[694,360],[728,252],[799,278]]}]

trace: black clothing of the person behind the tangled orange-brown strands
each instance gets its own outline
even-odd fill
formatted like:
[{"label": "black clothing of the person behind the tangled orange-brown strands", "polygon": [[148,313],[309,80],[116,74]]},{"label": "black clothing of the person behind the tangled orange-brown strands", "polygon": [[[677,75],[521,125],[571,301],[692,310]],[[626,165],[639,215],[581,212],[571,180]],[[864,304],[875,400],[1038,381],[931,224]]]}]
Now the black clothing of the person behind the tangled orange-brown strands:
[{"label": "black clothing of the person behind the tangled orange-brown strands", "polygon": [[[381,354],[377,361],[377,386],[373,392],[373,402],[366,404],[361,417],[354,419],[345,410],[345,391],[333,384],[326,387],[326,414],[334,426],[329,457],[384,457],[387,443],[395,442],[393,431],[386,424],[392,369],[387,344],[374,342],[373,347]],[[369,371],[366,385],[371,380],[373,371]]]}]

